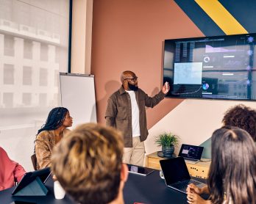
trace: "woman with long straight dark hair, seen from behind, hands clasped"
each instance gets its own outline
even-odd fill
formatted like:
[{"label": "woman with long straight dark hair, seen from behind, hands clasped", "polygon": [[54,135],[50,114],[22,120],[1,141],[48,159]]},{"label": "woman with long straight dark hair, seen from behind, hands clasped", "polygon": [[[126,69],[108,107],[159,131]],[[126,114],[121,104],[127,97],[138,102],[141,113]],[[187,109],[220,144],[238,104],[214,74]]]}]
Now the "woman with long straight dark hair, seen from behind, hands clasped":
[{"label": "woman with long straight dark hair, seen from behind, hands clasped", "polygon": [[[256,146],[241,128],[224,126],[213,132],[208,186],[190,184],[188,203],[256,204]],[[200,194],[210,194],[204,200]]]}]

